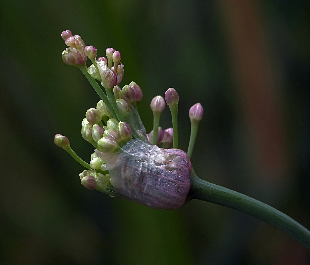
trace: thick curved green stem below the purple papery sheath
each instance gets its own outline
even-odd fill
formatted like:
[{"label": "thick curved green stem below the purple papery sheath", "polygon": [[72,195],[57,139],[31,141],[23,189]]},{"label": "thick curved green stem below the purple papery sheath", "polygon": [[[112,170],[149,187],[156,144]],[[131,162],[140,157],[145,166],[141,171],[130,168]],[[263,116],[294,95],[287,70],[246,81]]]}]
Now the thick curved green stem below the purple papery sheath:
[{"label": "thick curved green stem below the purple papery sheath", "polygon": [[206,182],[191,172],[191,199],[216,203],[244,212],[281,229],[310,250],[310,231],[286,214],[239,192]]}]

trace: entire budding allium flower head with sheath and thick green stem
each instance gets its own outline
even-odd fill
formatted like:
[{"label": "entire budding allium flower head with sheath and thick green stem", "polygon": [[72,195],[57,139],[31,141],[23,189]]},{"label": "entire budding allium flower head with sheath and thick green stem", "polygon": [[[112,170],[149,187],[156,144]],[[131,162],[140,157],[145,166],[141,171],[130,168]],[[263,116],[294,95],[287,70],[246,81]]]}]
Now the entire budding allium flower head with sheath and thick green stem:
[{"label": "entire budding allium flower head with sheath and thick green stem", "polygon": [[[121,53],[107,48],[106,58],[96,59],[97,49],[86,46],[80,36],[73,36],[66,30],[61,37],[69,46],[62,53],[64,63],[77,66],[100,97],[96,108],[89,109],[82,120],[82,137],[95,148],[90,164],[73,152],[67,137],[57,134],[54,138],[57,146],[86,168],[80,174],[83,186],[154,209],[177,209],[191,199],[217,203],[264,220],[310,249],[310,232],[289,216],[244,194],[197,177],[190,158],[203,115],[200,103],[193,105],[188,113],[191,136],[185,153],[178,149],[179,95],[174,88],[165,93],[172,128],[163,130],[159,127],[165,100],[157,96],[150,105],[153,130],[147,135],[138,113],[143,96],[141,88],[135,82],[123,89],[118,87],[124,76]],[[87,58],[91,61],[88,68]],[[172,143],[173,149],[169,149]]]}]

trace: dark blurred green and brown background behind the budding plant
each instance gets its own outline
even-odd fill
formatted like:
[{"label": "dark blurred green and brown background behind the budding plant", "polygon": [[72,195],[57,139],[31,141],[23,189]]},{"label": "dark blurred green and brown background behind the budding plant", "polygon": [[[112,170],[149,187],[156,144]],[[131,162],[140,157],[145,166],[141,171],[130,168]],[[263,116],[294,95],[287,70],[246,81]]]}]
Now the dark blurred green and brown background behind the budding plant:
[{"label": "dark blurred green and brown background behind the budding plant", "polygon": [[[204,107],[192,157],[197,174],[310,228],[310,2],[301,0],[0,2],[0,260],[3,264],[310,264],[280,230],[222,206],[191,201],[153,210],[86,190],[81,121],[99,100],[64,65],[71,30],[122,53],[121,86],[151,99],[175,88],[179,147],[188,109]],[[161,126],[171,126],[169,108]]]}]

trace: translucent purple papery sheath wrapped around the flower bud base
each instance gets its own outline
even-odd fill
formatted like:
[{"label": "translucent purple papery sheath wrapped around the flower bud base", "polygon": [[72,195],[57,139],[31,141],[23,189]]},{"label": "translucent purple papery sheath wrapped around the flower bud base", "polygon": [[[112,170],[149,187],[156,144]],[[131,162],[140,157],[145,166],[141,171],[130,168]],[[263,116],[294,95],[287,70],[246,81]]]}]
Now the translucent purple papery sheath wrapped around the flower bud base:
[{"label": "translucent purple papery sheath wrapped around the flower bud base", "polygon": [[134,139],[117,153],[96,153],[106,161],[111,184],[122,198],[154,209],[184,205],[192,169],[184,151]]}]

